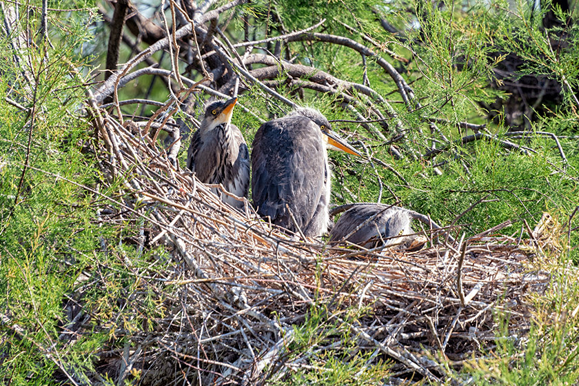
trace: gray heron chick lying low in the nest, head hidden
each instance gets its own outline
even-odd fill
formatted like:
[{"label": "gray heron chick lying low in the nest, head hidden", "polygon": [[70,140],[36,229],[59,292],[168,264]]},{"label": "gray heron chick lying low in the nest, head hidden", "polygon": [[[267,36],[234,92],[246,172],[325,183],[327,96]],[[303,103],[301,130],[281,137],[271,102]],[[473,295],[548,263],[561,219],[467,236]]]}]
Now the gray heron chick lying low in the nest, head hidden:
[{"label": "gray heron chick lying low in the nest, head hidden", "polygon": [[419,250],[426,243],[422,235],[412,235],[412,217],[401,207],[358,204],[347,210],[329,233],[329,243],[349,241],[360,247],[397,245],[397,249]]}]

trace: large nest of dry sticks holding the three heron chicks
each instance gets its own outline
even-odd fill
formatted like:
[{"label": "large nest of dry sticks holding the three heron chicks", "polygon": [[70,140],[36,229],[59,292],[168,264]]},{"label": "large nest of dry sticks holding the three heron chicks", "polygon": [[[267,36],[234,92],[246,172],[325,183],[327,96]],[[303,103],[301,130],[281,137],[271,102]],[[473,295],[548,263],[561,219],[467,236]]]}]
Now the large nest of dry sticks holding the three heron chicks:
[{"label": "large nest of dry sticks holding the three heron chicks", "polygon": [[[438,383],[447,376],[440,358],[459,366],[493,347],[496,312],[508,311],[511,337],[525,334],[527,294],[549,282],[529,260],[556,247],[540,227],[529,241],[494,236],[500,226],[454,242],[427,231],[429,247],[412,253],[300,241],[247,202],[245,213],[223,204],[134,123],[104,111],[98,123],[94,152],[123,197],[107,197],[101,220],[132,224],[139,247],[163,245],[170,255],[149,254],[150,269],[141,272],[143,286],[163,294],[157,307],[165,316],[143,321],[148,327],[139,331],[118,322],[114,336],[125,347],[115,341],[100,353],[100,376],[117,384],[133,377],[143,385],[265,383],[352,343],[369,365],[392,360],[395,376]],[[541,226],[553,224],[545,217]],[[349,340],[327,334],[325,346],[293,352],[298,327],[314,312]],[[134,314],[142,318],[139,309]]]}]

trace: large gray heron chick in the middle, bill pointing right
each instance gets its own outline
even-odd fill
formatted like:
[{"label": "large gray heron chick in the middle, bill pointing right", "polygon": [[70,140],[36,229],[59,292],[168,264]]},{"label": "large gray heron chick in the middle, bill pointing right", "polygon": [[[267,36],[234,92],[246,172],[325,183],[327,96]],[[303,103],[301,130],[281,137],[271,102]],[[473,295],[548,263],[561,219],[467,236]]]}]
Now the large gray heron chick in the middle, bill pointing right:
[{"label": "large gray heron chick in the middle, bill pointing right", "polygon": [[327,148],[360,155],[317,110],[298,108],[263,123],[252,145],[252,195],[258,214],[292,232],[299,228],[305,236],[324,234],[332,176]]}]

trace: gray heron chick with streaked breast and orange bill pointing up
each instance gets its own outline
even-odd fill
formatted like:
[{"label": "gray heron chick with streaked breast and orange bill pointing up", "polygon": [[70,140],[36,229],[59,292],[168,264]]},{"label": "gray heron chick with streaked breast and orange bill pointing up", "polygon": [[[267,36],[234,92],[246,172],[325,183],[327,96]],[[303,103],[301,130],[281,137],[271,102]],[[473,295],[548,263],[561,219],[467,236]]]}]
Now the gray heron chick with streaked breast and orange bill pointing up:
[{"label": "gray heron chick with streaked breast and orange bill pointing up", "polygon": [[[221,183],[227,192],[247,197],[250,185],[250,153],[241,131],[231,124],[237,98],[215,101],[205,108],[201,126],[191,137],[187,151],[187,168],[195,172],[202,183]],[[226,194],[213,192],[233,207],[243,208]]]}]

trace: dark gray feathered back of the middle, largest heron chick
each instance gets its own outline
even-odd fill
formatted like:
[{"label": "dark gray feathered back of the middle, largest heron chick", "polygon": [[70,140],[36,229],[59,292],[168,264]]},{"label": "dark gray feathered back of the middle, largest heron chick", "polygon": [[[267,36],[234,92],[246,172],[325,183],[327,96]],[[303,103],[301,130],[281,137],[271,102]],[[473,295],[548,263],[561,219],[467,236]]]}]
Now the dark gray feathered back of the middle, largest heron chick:
[{"label": "dark gray feathered back of the middle, largest heron chick", "polygon": [[321,132],[309,119],[287,116],[264,123],[256,132],[252,195],[262,216],[296,231],[289,210],[304,230],[320,201],[324,173]]}]

